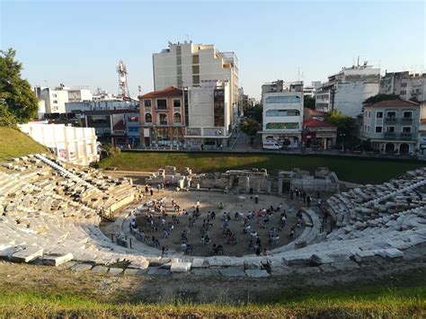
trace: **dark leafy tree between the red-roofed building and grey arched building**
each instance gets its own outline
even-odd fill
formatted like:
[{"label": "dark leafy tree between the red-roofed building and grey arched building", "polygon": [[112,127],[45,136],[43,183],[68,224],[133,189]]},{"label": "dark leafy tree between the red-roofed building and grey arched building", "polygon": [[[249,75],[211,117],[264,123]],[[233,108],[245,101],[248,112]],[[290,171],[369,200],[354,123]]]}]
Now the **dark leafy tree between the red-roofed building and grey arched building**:
[{"label": "dark leafy tree between the red-roofed building and grey arched building", "polygon": [[348,115],[343,115],[340,111],[329,111],[325,115],[325,122],[337,128],[337,143],[344,142],[346,146],[353,146],[357,141],[359,127],[356,120]]}]

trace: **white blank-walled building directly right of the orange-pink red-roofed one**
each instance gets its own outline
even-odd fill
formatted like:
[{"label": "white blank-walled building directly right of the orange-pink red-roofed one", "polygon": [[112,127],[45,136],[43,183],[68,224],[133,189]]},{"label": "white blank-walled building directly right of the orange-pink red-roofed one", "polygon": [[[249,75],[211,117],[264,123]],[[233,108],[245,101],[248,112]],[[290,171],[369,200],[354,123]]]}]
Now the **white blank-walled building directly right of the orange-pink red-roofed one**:
[{"label": "white blank-walled building directly right of the orange-pink red-roofed one", "polygon": [[200,87],[185,89],[188,107],[186,146],[229,146],[232,136],[232,108],[229,104],[228,82],[207,81]]}]

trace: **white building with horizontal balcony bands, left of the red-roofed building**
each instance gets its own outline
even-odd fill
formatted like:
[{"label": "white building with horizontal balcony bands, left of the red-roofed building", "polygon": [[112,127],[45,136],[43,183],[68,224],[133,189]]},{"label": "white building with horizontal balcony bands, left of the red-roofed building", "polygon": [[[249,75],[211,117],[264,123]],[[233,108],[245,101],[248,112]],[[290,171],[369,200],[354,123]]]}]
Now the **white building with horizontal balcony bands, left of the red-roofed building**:
[{"label": "white building with horizontal balcony bands, left of the red-roofed building", "polygon": [[262,85],[262,141],[297,147],[303,127],[303,82],[278,80]]}]

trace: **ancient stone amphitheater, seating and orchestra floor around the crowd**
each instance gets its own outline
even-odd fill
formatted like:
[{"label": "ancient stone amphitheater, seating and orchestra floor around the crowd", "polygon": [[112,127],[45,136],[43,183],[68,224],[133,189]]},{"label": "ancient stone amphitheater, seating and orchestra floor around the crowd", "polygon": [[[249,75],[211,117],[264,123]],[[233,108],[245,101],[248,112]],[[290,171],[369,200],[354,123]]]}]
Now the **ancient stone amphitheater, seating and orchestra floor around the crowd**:
[{"label": "ancient stone amphitheater, seating and orchestra floor around the crowd", "polygon": [[[300,268],[315,268],[315,271],[359,268],[374,259],[404,258],[405,250],[426,242],[426,168],[409,171],[382,184],[334,192],[324,199],[321,211],[314,199],[313,205],[307,207],[303,201],[300,204],[300,200],[289,199],[287,193],[283,196],[282,181],[274,196],[271,184],[265,186],[269,194],[266,191],[262,194],[260,183],[259,189],[250,195],[253,189],[248,178],[237,181],[244,183],[238,194],[229,194],[232,185],[220,191],[213,187],[202,191],[200,184],[186,191],[189,185],[181,185],[180,190],[169,191],[169,201],[165,203],[164,193],[161,187],[156,189],[156,183],[151,196],[150,191],[146,194],[145,187],[134,185],[129,178],[111,178],[92,168],[65,167],[48,155],[28,155],[4,162],[0,181],[0,258],[54,266],[63,264],[61,267],[76,271],[152,275],[216,272],[226,277],[267,277]],[[224,192],[232,200],[218,203]],[[162,245],[155,246],[155,241],[150,240],[153,234],[149,227],[141,230],[131,226],[135,220],[144,226],[148,222],[161,223],[164,216],[168,218],[167,224],[169,221],[180,224],[177,218],[190,220],[197,210],[196,202],[188,204],[187,213],[181,212],[179,217],[171,217],[173,214],[168,215],[164,210],[162,215],[164,208],[160,207],[159,212],[153,208],[155,204],[164,205],[170,211],[172,204],[176,208],[175,202],[183,201],[189,193],[194,194],[192,199],[201,198],[203,216],[199,223],[205,222],[210,209],[216,209],[215,227],[224,224],[226,227],[226,222],[241,225],[238,232],[235,230],[238,238],[250,238],[253,230],[244,230],[246,216],[234,215],[235,210],[245,205],[245,212],[253,208],[256,213],[269,204],[270,196],[271,201],[275,200],[274,205],[284,203],[276,209],[271,205],[271,217],[278,215],[274,218],[280,219],[286,211],[288,222],[294,218],[292,223],[298,224],[297,228],[293,227],[295,234],[287,235],[285,232],[290,228],[286,228],[280,234],[285,240],[272,243],[268,253],[255,252],[244,244],[247,251],[231,255],[226,254],[226,245],[223,254],[205,253],[202,248],[199,253],[197,249],[182,252],[179,232],[179,241],[174,242],[175,246],[171,241],[164,254],[160,249]],[[222,216],[226,209],[230,217]],[[325,216],[328,223],[324,222]],[[253,224],[259,226],[256,217],[253,215]],[[192,228],[192,234],[200,237],[200,228]],[[268,229],[264,230],[265,234]],[[162,229],[155,236],[167,243]]]}]

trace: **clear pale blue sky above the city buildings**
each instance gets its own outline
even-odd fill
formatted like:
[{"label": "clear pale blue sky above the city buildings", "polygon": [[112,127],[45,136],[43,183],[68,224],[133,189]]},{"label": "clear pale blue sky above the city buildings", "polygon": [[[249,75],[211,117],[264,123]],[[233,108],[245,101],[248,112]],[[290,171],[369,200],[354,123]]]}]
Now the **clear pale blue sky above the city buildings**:
[{"label": "clear pale blue sky above the city buildings", "polygon": [[[0,0],[0,48],[12,47],[32,85],[153,90],[152,53],[189,39],[235,51],[240,86],[259,98],[278,78],[326,80],[360,61],[382,72],[426,72],[423,1],[9,1]],[[300,71],[298,71],[300,70]]]}]

